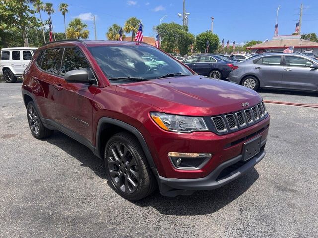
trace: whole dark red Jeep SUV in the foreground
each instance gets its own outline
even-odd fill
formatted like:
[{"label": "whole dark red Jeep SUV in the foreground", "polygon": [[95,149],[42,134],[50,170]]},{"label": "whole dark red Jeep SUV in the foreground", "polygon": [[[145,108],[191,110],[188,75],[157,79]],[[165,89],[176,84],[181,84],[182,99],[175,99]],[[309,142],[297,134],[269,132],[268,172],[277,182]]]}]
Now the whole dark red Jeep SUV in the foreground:
[{"label": "whole dark red Jeep SUV in the foreground", "polygon": [[257,92],[197,75],[148,44],[48,43],[22,95],[35,138],[59,130],[89,147],[129,200],[157,185],[166,196],[215,189],[265,156],[270,117]]}]

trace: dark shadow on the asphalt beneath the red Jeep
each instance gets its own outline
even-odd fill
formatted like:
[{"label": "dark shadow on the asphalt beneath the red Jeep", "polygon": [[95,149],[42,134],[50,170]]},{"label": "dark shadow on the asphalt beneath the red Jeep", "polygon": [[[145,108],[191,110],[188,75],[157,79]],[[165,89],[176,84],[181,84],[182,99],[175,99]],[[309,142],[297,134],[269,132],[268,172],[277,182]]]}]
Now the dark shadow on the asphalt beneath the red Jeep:
[{"label": "dark shadow on the asphalt beneath the red Jeep", "polygon": [[[46,141],[79,160],[82,163],[81,166],[89,167],[97,176],[107,180],[107,172],[103,161],[97,158],[86,146],[58,131],[55,131]],[[258,177],[257,170],[252,168],[235,181],[215,190],[196,191],[190,196],[165,197],[157,189],[150,196],[131,203],[140,207],[151,206],[159,213],[165,215],[211,214],[245,193]],[[107,181],[107,183],[109,184],[110,182]]]}]

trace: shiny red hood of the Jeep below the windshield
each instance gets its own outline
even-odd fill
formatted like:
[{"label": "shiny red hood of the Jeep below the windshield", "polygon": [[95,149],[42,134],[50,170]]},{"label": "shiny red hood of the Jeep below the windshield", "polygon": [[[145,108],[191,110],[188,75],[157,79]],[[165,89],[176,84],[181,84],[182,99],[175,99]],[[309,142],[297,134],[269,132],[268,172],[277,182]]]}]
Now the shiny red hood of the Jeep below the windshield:
[{"label": "shiny red hood of the Jeep below the windshield", "polygon": [[239,111],[242,103],[255,105],[262,97],[243,86],[200,75],[117,85],[130,95],[171,114],[208,116]]}]

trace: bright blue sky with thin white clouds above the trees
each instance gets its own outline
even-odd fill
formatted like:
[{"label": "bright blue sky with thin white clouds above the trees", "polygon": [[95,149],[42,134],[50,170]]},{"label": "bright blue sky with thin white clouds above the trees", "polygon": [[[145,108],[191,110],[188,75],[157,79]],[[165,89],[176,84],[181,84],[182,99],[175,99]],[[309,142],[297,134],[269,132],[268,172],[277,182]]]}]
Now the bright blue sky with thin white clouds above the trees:
[{"label": "bright blue sky with thin white clouds above the trees", "polygon": [[[91,15],[96,15],[97,38],[106,39],[105,33],[110,25],[124,25],[131,16],[141,19],[144,24],[144,35],[155,36],[153,27],[167,15],[162,23],[176,22],[182,24],[177,13],[182,13],[182,0],[48,0],[53,3],[55,13],[52,21],[55,31],[64,32],[63,16],[58,11],[61,2],[69,4],[66,21],[80,17],[88,24],[90,38],[94,39]],[[44,0],[44,2],[46,2]],[[303,3],[304,33],[318,33],[318,0],[186,0],[189,16],[189,31],[194,35],[211,29],[213,16],[213,32],[218,34],[220,41],[236,41],[237,44],[250,41],[271,39],[274,34],[276,11],[280,5],[278,23],[279,35],[294,32],[299,18],[299,7]],[[47,19],[47,15],[42,13]]]}]

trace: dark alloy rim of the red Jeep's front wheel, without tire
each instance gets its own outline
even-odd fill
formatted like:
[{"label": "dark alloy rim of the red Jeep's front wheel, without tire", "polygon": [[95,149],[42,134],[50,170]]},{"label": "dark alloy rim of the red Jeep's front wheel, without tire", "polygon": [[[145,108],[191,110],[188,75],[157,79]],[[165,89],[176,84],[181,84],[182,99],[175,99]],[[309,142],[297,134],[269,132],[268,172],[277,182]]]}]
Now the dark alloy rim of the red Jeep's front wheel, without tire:
[{"label": "dark alloy rim of the red Jeep's front wheel, without tire", "polygon": [[138,167],[134,155],[126,145],[115,142],[109,146],[107,165],[116,188],[127,194],[136,191],[139,183]]}]

